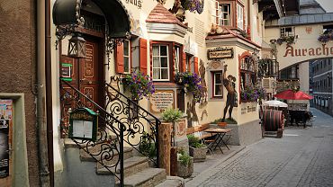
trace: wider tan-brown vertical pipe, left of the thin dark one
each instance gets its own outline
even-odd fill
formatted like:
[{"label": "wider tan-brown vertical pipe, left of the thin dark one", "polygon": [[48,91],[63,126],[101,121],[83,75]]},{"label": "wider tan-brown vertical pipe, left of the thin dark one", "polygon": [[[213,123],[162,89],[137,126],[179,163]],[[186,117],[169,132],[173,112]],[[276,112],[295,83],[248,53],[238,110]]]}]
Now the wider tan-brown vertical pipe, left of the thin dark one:
[{"label": "wider tan-brown vertical pipe, left of the thin dark one", "polygon": [[37,127],[39,148],[40,186],[49,186],[49,159],[47,142],[47,128],[45,117],[45,4],[37,4]]}]

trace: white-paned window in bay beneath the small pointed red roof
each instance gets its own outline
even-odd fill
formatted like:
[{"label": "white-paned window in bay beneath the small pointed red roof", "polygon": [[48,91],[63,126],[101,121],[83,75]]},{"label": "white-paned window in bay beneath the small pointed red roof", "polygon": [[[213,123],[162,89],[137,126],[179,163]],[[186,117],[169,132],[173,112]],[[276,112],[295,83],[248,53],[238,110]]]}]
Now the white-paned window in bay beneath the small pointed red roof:
[{"label": "white-paned window in bay beneath the small pointed red roof", "polygon": [[153,44],[152,74],[154,81],[169,81],[169,48],[168,45]]}]

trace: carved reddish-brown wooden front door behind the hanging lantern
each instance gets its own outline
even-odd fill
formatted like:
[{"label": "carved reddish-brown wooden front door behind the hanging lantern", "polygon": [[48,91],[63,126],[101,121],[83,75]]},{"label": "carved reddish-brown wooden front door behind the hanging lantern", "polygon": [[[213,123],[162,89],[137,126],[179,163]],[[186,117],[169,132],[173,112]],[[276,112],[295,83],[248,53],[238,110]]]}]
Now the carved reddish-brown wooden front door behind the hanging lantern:
[{"label": "carved reddish-brown wooden front door behind the hanging lantern", "polygon": [[[94,39],[85,36],[86,40],[86,57],[85,58],[68,58],[62,55],[60,58],[60,76],[70,85],[78,89],[82,94],[92,99],[98,105],[103,107],[103,40]],[[62,85],[63,89],[71,95],[75,95],[67,85]],[[66,92],[61,90],[61,95]],[[63,97],[64,98],[64,97]],[[97,111],[98,109],[92,102],[85,97],[80,96],[81,102],[85,107]],[[61,101],[62,106],[62,124],[68,125],[67,111],[69,108],[74,110],[77,107],[77,101],[67,98]]]}]

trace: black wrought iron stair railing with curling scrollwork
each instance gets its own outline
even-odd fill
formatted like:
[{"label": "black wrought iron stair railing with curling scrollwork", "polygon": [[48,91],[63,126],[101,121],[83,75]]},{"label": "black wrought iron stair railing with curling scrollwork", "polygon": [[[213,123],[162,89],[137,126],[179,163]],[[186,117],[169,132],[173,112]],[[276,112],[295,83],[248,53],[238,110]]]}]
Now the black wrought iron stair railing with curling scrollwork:
[{"label": "black wrought iron stair railing with curling scrollwork", "polygon": [[[131,101],[109,84],[105,84],[105,107],[61,80],[61,131],[66,136],[70,109],[87,107],[99,112],[97,140],[73,139],[80,149],[114,174],[123,186],[124,144],[136,149],[158,167],[158,126],[160,120]],[[148,131],[146,131],[148,129]],[[97,148],[96,148],[97,147]],[[156,153],[149,154],[149,153]]]}]

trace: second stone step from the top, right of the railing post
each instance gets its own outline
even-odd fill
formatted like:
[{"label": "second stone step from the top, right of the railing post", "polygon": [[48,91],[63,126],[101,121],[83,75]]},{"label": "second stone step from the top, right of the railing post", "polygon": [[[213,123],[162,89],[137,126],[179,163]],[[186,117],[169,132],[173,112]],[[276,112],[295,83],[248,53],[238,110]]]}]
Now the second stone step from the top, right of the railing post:
[{"label": "second stone step from the top, right of the railing post", "polygon": [[[101,168],[98,168],[101,167]],[[146,168],[148,168],[148,157],[143,156],[133,156],[123,162],[123,169],[125,176],[130,176],[131,174],[136,174]],[[114,167],[109,168],[112,172],[115,171]],[[120,164],[117,167],[117,174],[120,174]],[[111,172],[103,167],[102,165],[97,165],[97,174],[111,174]]]}]

